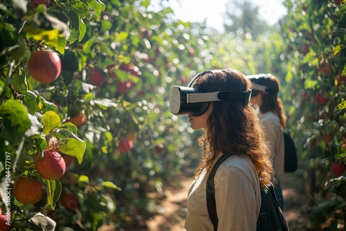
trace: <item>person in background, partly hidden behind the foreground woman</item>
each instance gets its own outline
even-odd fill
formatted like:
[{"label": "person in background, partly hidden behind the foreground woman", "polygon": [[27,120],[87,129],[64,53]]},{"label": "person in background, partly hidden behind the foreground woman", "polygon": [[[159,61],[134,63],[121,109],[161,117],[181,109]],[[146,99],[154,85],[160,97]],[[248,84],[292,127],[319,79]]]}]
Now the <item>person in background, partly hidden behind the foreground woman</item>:
[{"label": "person in background, partly hidden behind the foreground woman", "polygon": [[277,201],[281,209],[284,210],[284,197],[280,186],[280,178],[284,174],[283,131],[286,125],[286,116],[284,115],[282,101],[277,97],[280,82],[277,77],[271,74],[248,75],[248,78],[253,82],[251,104],[259,110],[266,141],[273,154],[275,176],[272,178],[272,183],[275,186]]}]

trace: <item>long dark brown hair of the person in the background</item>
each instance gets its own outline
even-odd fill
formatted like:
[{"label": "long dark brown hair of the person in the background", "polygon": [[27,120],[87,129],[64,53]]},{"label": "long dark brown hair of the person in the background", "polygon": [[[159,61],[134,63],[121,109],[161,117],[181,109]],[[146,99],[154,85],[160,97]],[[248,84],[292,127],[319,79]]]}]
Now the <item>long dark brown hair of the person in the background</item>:
[{"label": "long dark brown hair of the person in the background", "polygon": [[[274,85],[277,90],[280,89],[280,82],[274,75],[268,78],[268,81],[261,84]],[[262,104],[260,106],[260,112],[266,113],[268,111],[273,111],[280,118],[281,127],[284,129],[286,127],[286,115],[284,114],[284,107],[280,98],[277,98],[270,94],[262,93]]]}]

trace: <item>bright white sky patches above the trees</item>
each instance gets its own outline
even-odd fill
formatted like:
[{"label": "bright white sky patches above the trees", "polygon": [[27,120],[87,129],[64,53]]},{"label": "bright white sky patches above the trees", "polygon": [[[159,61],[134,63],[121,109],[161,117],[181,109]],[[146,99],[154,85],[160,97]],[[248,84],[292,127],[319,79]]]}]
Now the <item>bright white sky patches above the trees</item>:
[{"label": "bright white sky patches above the trees", "polygon": [[[158,1],[158,0],[157,0]],[[206,19],[210,28],[224,31],[223,17],[226,12],[226,3],[231,0],[169,0],[168,6],[174,10],[174,15],[182,21],[200,22]],[[259,6],[260,17],[268,24],[273,25],[283,15],[286,8],[283,0],[256,0],[252,1]]]}]

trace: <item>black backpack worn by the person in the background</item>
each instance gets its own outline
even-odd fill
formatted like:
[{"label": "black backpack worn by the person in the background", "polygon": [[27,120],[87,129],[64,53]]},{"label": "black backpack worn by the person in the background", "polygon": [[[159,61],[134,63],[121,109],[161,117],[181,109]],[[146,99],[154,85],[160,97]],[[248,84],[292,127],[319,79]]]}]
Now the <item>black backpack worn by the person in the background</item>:
[{"label": "black backpack worn by the person in the background", "polygon": [[295,172],[297,168],[297,150],[289,132],[284,131],[284,172]]}]

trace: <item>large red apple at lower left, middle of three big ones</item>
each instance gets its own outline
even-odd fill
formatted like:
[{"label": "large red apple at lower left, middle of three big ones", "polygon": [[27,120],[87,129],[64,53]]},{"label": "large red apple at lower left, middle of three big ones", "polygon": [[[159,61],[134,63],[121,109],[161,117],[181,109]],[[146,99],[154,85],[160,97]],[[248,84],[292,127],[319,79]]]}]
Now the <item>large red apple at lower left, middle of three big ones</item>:
[{"label": "large red apple at lower left, middle of three big ones", "polygon": [[35,168],[42,178],[59,180],[64,176],[66,164],[64,158],[57,151],[44,150],[44,156],[37,152],[34,158]]}]

